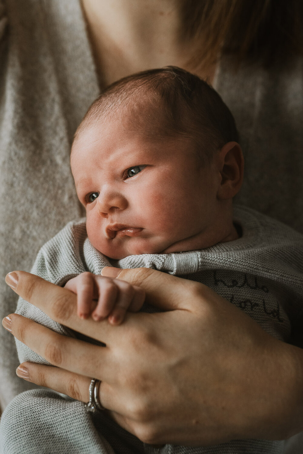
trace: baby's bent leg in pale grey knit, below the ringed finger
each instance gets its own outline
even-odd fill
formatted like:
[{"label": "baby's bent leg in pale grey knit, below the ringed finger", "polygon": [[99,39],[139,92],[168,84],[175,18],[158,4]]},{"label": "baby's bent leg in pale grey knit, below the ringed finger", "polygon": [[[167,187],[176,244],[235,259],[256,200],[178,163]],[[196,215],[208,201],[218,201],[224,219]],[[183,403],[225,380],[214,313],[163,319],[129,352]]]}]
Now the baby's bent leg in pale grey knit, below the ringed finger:
[{"label": "baby's bent leg in pale grey knit, below the ringed finger", "polygon": [[106,440],[98,435],[84,405],[53,391],[32,390],[20,394],[6,408],[1,430],[8,435],[1,440],[3,454],[114,454]]}]

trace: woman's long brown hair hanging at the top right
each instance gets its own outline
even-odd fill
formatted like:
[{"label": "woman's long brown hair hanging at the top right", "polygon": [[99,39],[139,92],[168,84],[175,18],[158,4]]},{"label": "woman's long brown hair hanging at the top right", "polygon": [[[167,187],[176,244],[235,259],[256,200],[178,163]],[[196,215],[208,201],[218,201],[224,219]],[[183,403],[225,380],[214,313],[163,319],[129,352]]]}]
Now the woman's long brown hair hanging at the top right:
[{"label": "woman's long brown hair hanging at the top right", "polygon": [[196,37],[190,67],[231,54],[264,66],[303,54],[303,0],[186,0],[184,35]]}]

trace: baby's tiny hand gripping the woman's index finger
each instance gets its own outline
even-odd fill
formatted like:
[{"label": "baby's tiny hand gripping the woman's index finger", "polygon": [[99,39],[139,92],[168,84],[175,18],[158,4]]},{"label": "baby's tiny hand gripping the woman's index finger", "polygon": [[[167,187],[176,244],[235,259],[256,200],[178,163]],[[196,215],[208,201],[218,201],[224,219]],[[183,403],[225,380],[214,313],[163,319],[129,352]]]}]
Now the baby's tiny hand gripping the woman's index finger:
[{"label": "baby's tiny hand gripping the woman's index finger", "polygon": [[76,293],[80,318],[92,314],[93,319],[99,321],[108,317],[112,325],[119,325],[126,311],[139,311],[145,300],[145,292],[140,287],[89,272],[73,277],[64,287]]}]

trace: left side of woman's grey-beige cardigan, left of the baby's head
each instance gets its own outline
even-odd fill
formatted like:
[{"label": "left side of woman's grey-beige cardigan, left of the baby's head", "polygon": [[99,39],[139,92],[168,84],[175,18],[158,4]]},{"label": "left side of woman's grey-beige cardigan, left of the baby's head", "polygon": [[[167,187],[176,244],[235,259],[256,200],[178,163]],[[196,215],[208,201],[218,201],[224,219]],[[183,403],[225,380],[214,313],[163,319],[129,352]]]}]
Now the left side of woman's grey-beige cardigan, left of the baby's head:
[{"label": "left side of woman's grey-beige cardigan, left of the baby's head", "polygon": [[[1,5],[3,4],[0,0]],[[0,309],[15,311],[5,274],[29,271],[40,247],[83,216],[69,168],[78,123],[98,96],[78,0],[8,0],[0,39]],[[20,380],[15,341],[0,330],[1,406]]]}]

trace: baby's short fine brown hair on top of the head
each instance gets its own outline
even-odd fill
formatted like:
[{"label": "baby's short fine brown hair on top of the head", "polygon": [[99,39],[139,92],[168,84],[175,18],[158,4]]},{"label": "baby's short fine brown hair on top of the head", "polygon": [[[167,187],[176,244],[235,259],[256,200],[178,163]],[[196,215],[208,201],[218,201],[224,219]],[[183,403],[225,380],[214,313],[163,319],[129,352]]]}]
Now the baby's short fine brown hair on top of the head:
[{"label": "baby's short fine brown hair on top of the head", "polygon": [[187,138],[204,162],[225,143],[238,142],[235,120],[220,95],[175,66],[142,71],[109,85],[89,107],[74,140],[90,125],[97,123],[101,130],[108,118],[125,122],[131,133],[152,141]]}]

